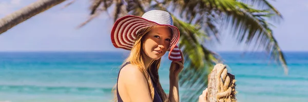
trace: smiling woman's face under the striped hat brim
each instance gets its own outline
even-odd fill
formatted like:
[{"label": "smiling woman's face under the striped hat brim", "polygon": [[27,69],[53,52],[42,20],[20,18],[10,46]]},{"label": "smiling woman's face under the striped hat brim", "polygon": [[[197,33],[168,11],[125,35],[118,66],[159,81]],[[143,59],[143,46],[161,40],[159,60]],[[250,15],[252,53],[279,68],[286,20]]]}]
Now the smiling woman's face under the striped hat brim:
[{"label": "smiling woman's face under the striped hat brim", "polygon": [[171,31],[167,26],[156,26],[144,36],[143,50],[151,60],[160,59],[168,50],[171,42]]}]

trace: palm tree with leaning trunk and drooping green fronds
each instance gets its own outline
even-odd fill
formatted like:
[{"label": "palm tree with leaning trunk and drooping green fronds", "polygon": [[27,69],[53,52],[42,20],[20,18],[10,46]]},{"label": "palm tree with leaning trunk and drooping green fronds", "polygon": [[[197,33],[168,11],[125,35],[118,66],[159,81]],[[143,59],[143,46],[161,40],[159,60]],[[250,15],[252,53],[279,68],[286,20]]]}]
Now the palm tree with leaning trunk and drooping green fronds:
[{"label": "palm tree with leaning trunk and drooping green fronds", "polygon": [[[41,0],[6,16],[0,20],[0,34],[62,2],[64,0]],[[284,55],[273,36],[273,25],[269,23],[281,20],[282,15],[267,0],[91,0],[90,18],[79,27],[110,8],[113,9],[114,21],[127,14],[141,16],[150,9],[171,13],[181,33],[179,45],[186,62],[180,74],[180,85],[190,90],[183,94],[183,101],[198,99],[207,85],[208,73],[222,60],[204,45],[220,42],[219,27],[230,29],[238,43],[263,49],[287,73]]]}]

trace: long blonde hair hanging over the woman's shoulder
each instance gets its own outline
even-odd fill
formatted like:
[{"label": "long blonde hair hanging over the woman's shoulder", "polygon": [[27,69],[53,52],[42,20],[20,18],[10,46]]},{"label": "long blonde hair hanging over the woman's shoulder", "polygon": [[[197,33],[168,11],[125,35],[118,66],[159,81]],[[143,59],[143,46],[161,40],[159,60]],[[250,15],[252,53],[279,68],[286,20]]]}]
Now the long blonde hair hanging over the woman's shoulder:
[{"label": "long blonde hair hanging over the woman's shoulder", "polygon": [[[158,69],[160,66],[161,58],[158,60],[153,60],[148,68],[145,68],[144,66],[143,59],[146,58],[147,55],[144,53],[143,50],[143,38],[152,30],[152,28],[153,27],[147,27],[139,31],[135,43],[131,49],[131,52],[127,59],[124,61],[124,63],[121,65],[121,67],[127,62],[130,62],[130,64],[132,65],[138,66],[139,70],[144,74],[144,77],[147,80],[148,90],[150,92],[151,98],[154,99],[155,90],[153,84],[155,84],[157,86],[156,91],[158,92],[162,100],[169,101],[167,94],[163,90],[159,81]],[[153,83],[151,80],[153,81]],[[114,93],[114,100],[117,101],[117,84],[115,84],[112,90]]]}]

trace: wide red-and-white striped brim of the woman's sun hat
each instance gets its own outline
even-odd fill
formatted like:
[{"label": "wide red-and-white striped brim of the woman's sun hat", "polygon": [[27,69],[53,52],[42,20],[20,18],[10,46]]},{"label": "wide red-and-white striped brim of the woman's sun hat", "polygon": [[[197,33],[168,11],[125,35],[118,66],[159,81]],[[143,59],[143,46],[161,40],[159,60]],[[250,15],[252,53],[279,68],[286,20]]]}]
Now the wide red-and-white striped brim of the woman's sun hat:
[{"label": "wide red-and-white striped brim of the woman's sun hat", "polygon": [[[111,42],[116,48],[131,50],[140,29],[153,25],[166,25],[172,30],[172,38],[168,51],[172,51],[179,42],[180,32],[177,27],[169,24],[159,24],[139,16],[127,15],[114,22],[111,30]],[[170,53],[169,53],[170,55]]]}]

